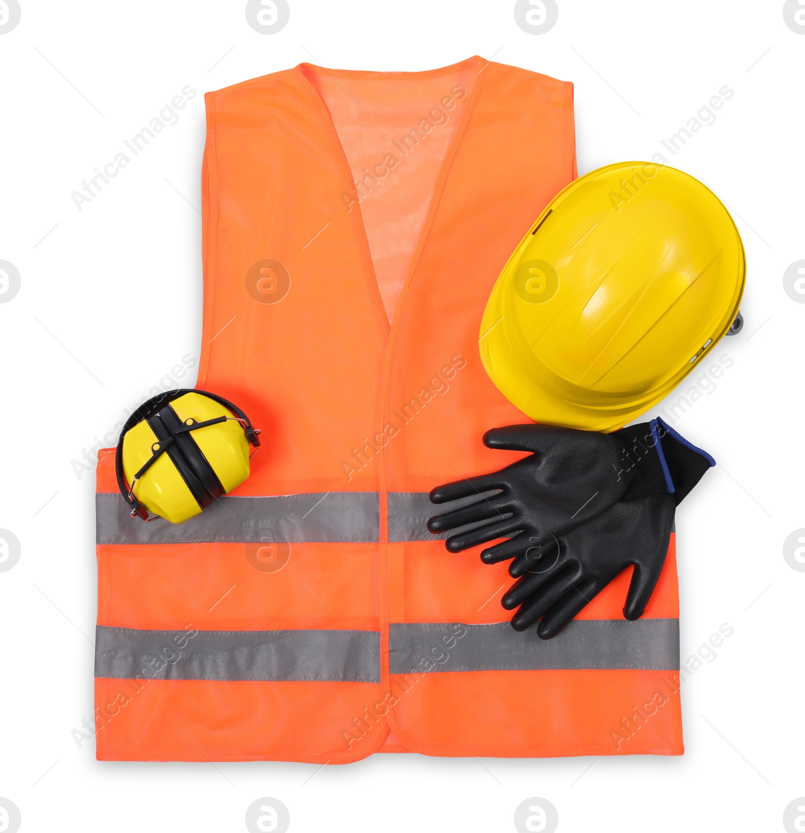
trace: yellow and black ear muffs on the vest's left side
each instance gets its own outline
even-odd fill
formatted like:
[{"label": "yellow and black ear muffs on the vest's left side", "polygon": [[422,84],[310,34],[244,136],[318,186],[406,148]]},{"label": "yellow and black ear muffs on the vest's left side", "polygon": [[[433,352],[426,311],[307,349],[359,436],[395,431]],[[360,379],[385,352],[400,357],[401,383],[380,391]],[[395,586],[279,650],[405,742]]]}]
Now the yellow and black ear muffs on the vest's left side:
[{"label": "yellow and black ear muffs on the vest's left side", "polygon": [[129,417],[117,443],[117,486],[132,517],[181,523],[249,476],[249,417],[206,391],[168,391]]}]

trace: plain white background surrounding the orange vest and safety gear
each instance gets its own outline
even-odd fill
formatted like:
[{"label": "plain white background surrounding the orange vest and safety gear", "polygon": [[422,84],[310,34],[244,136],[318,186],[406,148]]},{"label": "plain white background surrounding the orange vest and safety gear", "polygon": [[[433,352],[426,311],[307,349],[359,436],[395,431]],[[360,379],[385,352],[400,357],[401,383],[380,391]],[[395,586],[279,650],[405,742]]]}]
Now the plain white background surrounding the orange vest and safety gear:
[{"label": "plain white background surrounding the orange vest and safety gear", "polygon": [[[291,0],[271,36],[245,0],[21,2],[0,35],[0,260],[22,275],[0,304],[0,527],[22,543],[0,572],[0,796],[22,831],[242,831],[261,796],[291,831],[513,831],[529,796],[559,831],[783,830],[805,796],[805,572],[783,559],[805,527],[805,305],[783,291],[805,258],[805,35],[783,0],[559,0],[540,35],[514,0]],[[719,464],[677,516],[683,658],[735,630],[683,686],[684,756],[97,762],[71,735],[93,713],[96,616],[94,473],[73,461],[198,356],[203,92],[305,61],[421,70],[475,53],[574,82],[580,174],[651,157],[735,92],[668,157],[733,210],[748,258],[746,325],[713,354],[733,366],[675,426]],[[179,122],[78,212],[82,179],[187,84]]]}]

